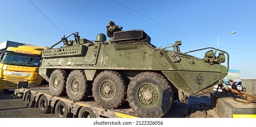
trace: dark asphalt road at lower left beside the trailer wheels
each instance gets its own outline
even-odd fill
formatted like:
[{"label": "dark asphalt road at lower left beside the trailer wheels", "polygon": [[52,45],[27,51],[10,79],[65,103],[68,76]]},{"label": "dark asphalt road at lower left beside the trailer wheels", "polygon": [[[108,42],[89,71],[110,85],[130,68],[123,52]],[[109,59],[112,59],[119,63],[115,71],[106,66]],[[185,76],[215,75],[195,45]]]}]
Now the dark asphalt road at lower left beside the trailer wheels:
[{"label": "dark asphalt road at lower left beside the trailer wheels", "polygon": [[11,96],[14,92],[0,90],[0,118],[53,118],[55,114],[42,114],[38,108],[27,108],[22,98]]}]

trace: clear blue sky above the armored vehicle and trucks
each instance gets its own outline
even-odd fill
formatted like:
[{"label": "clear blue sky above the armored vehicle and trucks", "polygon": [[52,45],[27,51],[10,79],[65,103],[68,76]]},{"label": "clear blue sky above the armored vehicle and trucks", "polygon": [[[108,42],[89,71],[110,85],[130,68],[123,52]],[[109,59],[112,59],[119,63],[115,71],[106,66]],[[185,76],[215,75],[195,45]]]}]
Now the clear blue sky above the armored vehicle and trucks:
[{"label": "clear blue sky above the armored vehicle and trucks", "polygon": [[157,47],[181,40],[181,52],[217,48],[219,36],[230,69],[256,79],[255,13],[256,0],[0,0],[0,43],[51,46],[74,32],[95,40],[112,20],[123,30],[143,29]]}]

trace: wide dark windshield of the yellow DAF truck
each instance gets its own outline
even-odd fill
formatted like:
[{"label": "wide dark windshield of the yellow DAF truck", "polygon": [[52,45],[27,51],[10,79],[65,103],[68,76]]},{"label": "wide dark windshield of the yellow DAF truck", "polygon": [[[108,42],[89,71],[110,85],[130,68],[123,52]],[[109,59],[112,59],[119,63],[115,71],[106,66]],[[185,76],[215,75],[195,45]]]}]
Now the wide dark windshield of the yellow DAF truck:
[{"label": "wide dark windshield of the yellow DAF truck", "polygon": [[1,61],[1,64],[25,67],[39,67],[40,60],[41,58],[35,55],[5,53]]}]

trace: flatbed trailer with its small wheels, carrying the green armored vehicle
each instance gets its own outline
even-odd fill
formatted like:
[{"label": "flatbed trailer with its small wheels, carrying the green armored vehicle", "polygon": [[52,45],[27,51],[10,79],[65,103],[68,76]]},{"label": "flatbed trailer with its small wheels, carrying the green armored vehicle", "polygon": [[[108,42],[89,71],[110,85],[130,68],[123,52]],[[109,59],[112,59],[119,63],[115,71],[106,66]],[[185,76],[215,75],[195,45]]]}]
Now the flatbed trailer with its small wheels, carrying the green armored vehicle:
[{"label": "flatbed trailer with its small wheels, carrying the green armored vehicle", "polygon": [[[69,97],[54,96],[49,87],[18,88],[15,97],[22,98],[26,107],[38,107],[41,113],[55,113],[55,117],[109,117],[109,118],[140,118],[133,111],[128,101],[118,109],[100,107],[92,96],[87,101],[72,101]],[[196,118],[218,117],[205,103],[181,103],[174,101],[171,110],[163,118]]]}]

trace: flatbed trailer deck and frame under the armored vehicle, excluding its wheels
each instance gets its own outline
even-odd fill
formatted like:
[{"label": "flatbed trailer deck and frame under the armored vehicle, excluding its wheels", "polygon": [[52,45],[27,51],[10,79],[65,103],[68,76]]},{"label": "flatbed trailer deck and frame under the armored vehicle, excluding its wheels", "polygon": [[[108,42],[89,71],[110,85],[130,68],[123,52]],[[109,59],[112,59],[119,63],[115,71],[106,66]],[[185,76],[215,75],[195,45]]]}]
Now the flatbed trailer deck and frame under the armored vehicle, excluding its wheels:
[{"label": "flatbed trailer deck and frame under the armored vehicle, excluding its wheels", "polygon": [[[34,101],[35,107],[38,107],[39,98],[43,95],[48,99],[51,106],[51,112],[55,113],[54,109],[58,101],[63,101],[69,108],[68,112],[73,114],[73,117],[77,117],[81,107],[88,107],[91,109],[96,117],[141,117],[138,113],[134,112],[126,101],[118,109],[106,109],[100,107],[92,96],[86,99],[86,101],[72,101],[69,97],[58,97],[50,93],[49,87],[39,88],[18,88],[15,89],[15,96],[22,97],[25,101],[26,94],[31,94],[31,100]],[[218,117],[215,112],[212,112],[210,105],[202,103],[180,103],[174,101],[171,110],[163,116],[164,118],[192,118],[192,117]]]}]

